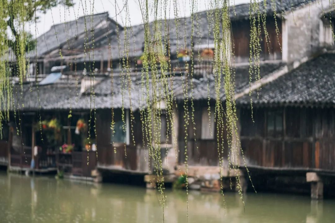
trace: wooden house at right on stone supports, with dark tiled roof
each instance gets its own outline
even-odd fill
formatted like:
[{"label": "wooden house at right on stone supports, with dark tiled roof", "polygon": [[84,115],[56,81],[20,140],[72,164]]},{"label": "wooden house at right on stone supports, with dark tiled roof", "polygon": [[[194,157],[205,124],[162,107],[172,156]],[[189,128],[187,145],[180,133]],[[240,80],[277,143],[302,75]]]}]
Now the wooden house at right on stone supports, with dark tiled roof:
[{"label": "wooden house at right on stone supports, with dark tiled roof", "polygon": [[[252,175],[265,177],[264,187],[271,187],[274,176],[300,177],[297,184],[306,186],[307,181],[314,181],[306,174],[313,173],[318,180],[312,182],[312,196],[322,196],[314,193],[316,185],[324,185],[325,193],[332,193],[334,59],[334,54],[320,55],[262,86],[258,93],[254,91],[253,115],[250,97],[237,99],[246,164]],[[308,191],[308,186],[305,188]]]}]

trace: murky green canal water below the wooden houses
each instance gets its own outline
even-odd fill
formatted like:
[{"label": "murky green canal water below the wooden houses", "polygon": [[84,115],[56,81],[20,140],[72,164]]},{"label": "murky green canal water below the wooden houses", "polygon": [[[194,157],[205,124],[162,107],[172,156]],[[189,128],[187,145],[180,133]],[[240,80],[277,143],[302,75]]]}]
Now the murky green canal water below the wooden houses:
[{"label": "murky green canal water below the wooden houses", "polygon": [[[185,191],[166,190],[164,222],[184,223]],[[335,222],[335,200],[307,196],[246,194],[245,209],[236,193],[190,191],[190,223],[316,223]],[[154,190],[113,184],[89,184],[0,172],[0,222],[163,222]]]}]

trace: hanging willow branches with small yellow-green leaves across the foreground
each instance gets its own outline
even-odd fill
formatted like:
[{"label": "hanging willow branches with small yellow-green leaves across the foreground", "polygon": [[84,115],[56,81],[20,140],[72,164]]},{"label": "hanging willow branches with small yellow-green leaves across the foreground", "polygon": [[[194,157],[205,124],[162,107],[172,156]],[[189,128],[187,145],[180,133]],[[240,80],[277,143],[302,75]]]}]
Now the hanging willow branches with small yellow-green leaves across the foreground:
[{"label": "hanging willow branches with small yellow-green leaves across the foreground", "polygon": [[[84,17],[84,42],[82,45],[84,54],[84,71],[89,72],[90,76],[90,117],[89,117],[89,128],[88,138],[90,138],[90,126],[91,121],[96,121],[96,109],[95,109],[95,93],[94,93],[94,33],[93,26],[93,13],[94,13],[94,1],[87,2],[86,0],[80,0],[79,6],[81,5]],[[112,3],[112,2],[111,2]],[[53,7],[62,4],[67,7],[75,8],[71,0],[0,0],[0,127],[2,128],[2,121],[9,120],[9,111],[12,110],[15,116],[15,122],[17,121],[16,129],[17,134],[21,134],[21,119],[19,115],[20,109],[24,107],[22,101],[23,97],[23,82],[26,81],[28,73],[28,64],[35,63],[37,65],[37,46],[36,40],[32,40],[31,33],[26,31],[27,22],[36,23],[38,21],[37,12],[46,12],[51,10]],[[232,42],[232,25],[231,18],[233,15],[236,16],[235,8],[231,7],[230,1],[228,0],[209,0],[208,10],[206,11],[207,24],[201,24],[203,20],[199,19],[198,4],[197,0],[190,0],[190,18],[181,18],[184,9],[182,9],[183,3],[178,0],[137,0],[136,4],[140,7],[142,28],[143,28],[143,54],[141,55],[142,69],[140,73],[133,72],[132,64],[136,59],[135,54],[135,40],[134,31],[130,24],[130,10],[128,1],[124,1],[123,7],[120,9],[117,1],[115,0],[113,7],[115,7],[115,20],[118,23],[118,17],[121,12],[125,12],[125,18],[122,20],[124,30],[120,30],[119,26],[116,27],[116,43],[111,42],[109,39],[108,47],[110,51],[110,57],[118,55],[119,67],[120,67],[120,88],[122,96],[122,121],[123,131],[127,131],[127,126],[131,128],[132,140],[135,144],[134,139],[134,114],[133,104],[134,98],[139,102],[140,120],[142,123],[142,146],[148,151],[147,160],[148,166],[152,172],[156,175],[157,188],[160,193],[160,203],[163,209],[166,204],[166,197],[164,195],[164,174],[163,165],[164,160],[162,159],[162,151],[165,150],[167,155],[168,150],[168,139],[171,138],[172,145],[175,149],[176,159],[178,159],[178,153],[183,151],[185,155],[184,167],[186,174],[186,194],[188,195],[188,159],[189,159],[189,130],[193,131],[193,135],[196,136],[196,122],[201,121],[199,117],[195,116],[195,105],[194,105],[194,67],[196,60],[201,62],[200,51],[196,52],[195,47],[201,43],[203,25],[207,25],[208,33],[204,36],[208,36],[208,41],[211,41],[214,45],[214,56],[211,59],[207,59],[207,65],[209,63],[213,66],[213,71],[206,73],[206,80],[202,80],[207,84],[207,105],[209,119],[214,119],[215,128],[210,134],[215,135],[220,178],[223,178],[224,169],[228,168],[229,173],[233,173],[236,176],[236,184],[238,193],[240,194],[241,200],[243,201],[240,166],[244,165],[247,169],[248,177],[249,170],[246,166],[243,150],[241,149],[240,140],[238,137],[238,126],[237,126],[237,110],[235,104],[235,57],[234,57],[234,43]],[[329,3],[329,8],[331,3]],[[333,3],[334,5],[334,3]],[[169,8],[173,11],[170,11]],[[249,80],[250,80],[250,93],[251,93],[251,82],[256,80],[259,82],[260,76],[260,55],[262,53],[261,41],[265,41],[267,47],[270,48],[270,38],[266,26],[266,20],[269,9],[272,10],[275,33],[279,42],[279,28],[277,24],[277,16],[279,13],[277,9],[282,10],[283,6],[281,2],[275,0],[268,0],[261,2],[259,0],[250,0],[249,5],[249,21],[250,21],[250,57],[249,57]],[[60,9],[59,9],[60,10]],[[79,10],[79,9],[78,9]],[[119,10],[119,11],[118,11]],[[293,5],[292,5],[293,10]],[[55,11],[54,11],[55,13]],[[65,9],[64,9],[65,13]],[[89,15],[88,15],[89,14]],[[174,19],[171,19],[173,16]],[[283,16],[283,15],[282,15]],[[89,18],[90,24],[86,24]],[[332,25],[331,12],[329,12],[329,21]],[[109,20],[106,19],[106,23]],[[53,21],[54,23],[54,21]],[[189,24],[190,23],[190,24]],[[66,24],[65,24],[66,26]],[[53,27],[56,32],[56,27]],[[331,26],[332,32],[333,28]],[[29,27],[30,30],[30,27]],[[10,33],[8,33],[8,31]],[[108,31],[110,31],[108,29]],[[37,32],[35,28],[35,32]],[[58,38],[56,39],[58,42]],[[37,33],[35,33],[37,35]],[[67,33],[66,33],[67,36]],[[333,32],[333,36],[334,32]],[[90,38],[90,39],[89,39]],[[335,38],[335,37],[334,37]],[[196,43],[194,42],[196,40]],[[174,42],[172,44],[172,41]],[[272,40],[273,41],[273,40]],[[70,51],[70,40],[67,37],[68,50]],[[116,45],[117,52],[113,52],[111,45]],[[133,44],[133,46],[131,46]],[[171,50],[172,45],[174,49]],[[63,60],[63,53],[61,51],[60,43],[58,43],[59,54]],[[280,45],[281,48],[281,45]],[[29,61],[27,52],[36,51],[36,61]],[[178,62],[178,67],[185,66],[185,71],[177,76],[174,70],[172,58],[178,58],[178,55],[182,53],[189,60]],[[86,67],[86,55],[88,56],[88,64]],[[196,56],[197,55],[197,56]],[[91,61],[92,59],[92,61]],[[111,60],[106,58],[105,60]],[[73,63],[73,62],[71,62]],[[76,60],[75,60],[76,67]],[[87,68],[89,71],[87,71]],[[115,112],[113,108],[114,103],[114,80],[113,77],[117,77],[113,74],[112,65],[111,69],[111,88],[112,88],[112,121],[111,131],[112,138],[115,134]],[[135,66],[135,68],[137,68]],[[77,69],[77,68],[76,68]],[[75,70],[76,70],[75,69]],[[135,69],[137,71],[137,69]],[[136,77],[137,81],[134,83],[133,77]],[[38,75],[36,76],[38,77]],[[13,85],[12,80],[18,80],[20,88]],[[86,79],[86,75],[84,76]],[[175,83],[181,83],[182,92],[174,92],[176,89]],[[86,82],[85,82],[86,83]],[[134,97],[133,88],[137,84],[141,87],[139,95]],[[86,88],[86,87],[85,87]],[[86,89],[85,89],[86,90]],[[39,94],[38,94],[39,95]],[[176,97],[181,96],[183,100],[177,101]],[[15,99],[15,100],[14,100]],[[15,101],[15,103],[14,103]],[[125,104],[127,107],[125,107]],[[214,104],[213,108],[210,106]],[[179,107],[178,107],[179,106]],[[40,107],[40,106],[39,106]],[[251,101],[252,107],[252,101]],[[71,108],[71,107],[70,107]],[[72,108],[71,108],[72,109]],[[71,109],[69,118],[71,117]],[[127,109],[129,109],[130,120],[126,123]],[[178,147],[177,132],[175,123],[178,121],[176,118],[176,112],[180,109],[183,112],[183,119],[179,120],[183,124],[183,130],[185,134],[183,148]],[[213,116],[211,116],[213,113]],[[166,115],[166,132],[162,133],[162,115]],[[18,118],[16,118],[16,116]],[[95,125],[94,133],[95,131]],[[41,129],[41,117],[40,117],[40,129]],[[210,128],[211,129],[211,128]],[[136,131],[136,130],[135,130]],[[165,142],[161,141],[162,135],[165,135]],[[196,137],[194,137],[196,138]],[[113,144],[113,142],[112,142]],[[195,142],[196,144],[196,142]],[[197,148],[197,146],[196,146]],[[116,153],[116,148],[114,148]],[[180,154],[180,153],[179,153]],[[224,155],[227,154],[227,160],[224,160]],[[125,155],[127,155],[127,147],[125,146]],[[242,157],[242,162],[240,158]],[[88,156],[87,156],[88,158]],[[89,160],[87,160],[87,163]],[[166,161],[167,162],[167,161]],[[226,166],[227,165],[227,166]],[[180,174],[183,174],[180,166],[178,166]],[[221,184],[221,189],[223,186]],[[223,195],[223,192],[222,192]],[[224,200],[224,196],[223,200]],[[188,200],[187,200],[188,209]]]}]

